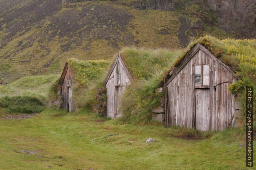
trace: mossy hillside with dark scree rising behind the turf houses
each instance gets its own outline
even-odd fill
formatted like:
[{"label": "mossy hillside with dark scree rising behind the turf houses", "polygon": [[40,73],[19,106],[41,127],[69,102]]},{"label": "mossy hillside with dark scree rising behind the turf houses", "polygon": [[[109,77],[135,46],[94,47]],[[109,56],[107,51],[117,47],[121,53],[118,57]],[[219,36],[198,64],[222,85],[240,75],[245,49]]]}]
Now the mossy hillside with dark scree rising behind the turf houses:
[{"label": "mossy hillside with dark scree rising behind the turf houses", "polygon": [[201,5],[161,2],[0,0],[0,80],[59,74],[67,58],[108,59],[124,46],[173,49],[202,34],[234,35]]}]

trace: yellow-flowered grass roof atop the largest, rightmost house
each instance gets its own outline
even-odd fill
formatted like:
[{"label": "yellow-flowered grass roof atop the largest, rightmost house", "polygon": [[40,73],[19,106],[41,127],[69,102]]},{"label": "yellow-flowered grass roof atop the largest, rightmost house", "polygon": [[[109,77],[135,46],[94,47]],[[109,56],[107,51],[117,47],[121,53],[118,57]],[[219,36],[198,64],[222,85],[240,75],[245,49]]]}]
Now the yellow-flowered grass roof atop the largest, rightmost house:
[{"label": "yellow-flowered grass roof atop the largest, rightmost house", "polygon": [[[184,50],[183,54],[172,65],[177,67],[186,56],[186,54],[197,44],[200,43],[208,49],[215,57],[229,66],[237,76],[245,77],[249,73],[250,78],[255,82],[256,72],[256,40],[219,40],[212,36],[203,36],[192,41]],[[246,73],[246,74],[245,74]]]}]

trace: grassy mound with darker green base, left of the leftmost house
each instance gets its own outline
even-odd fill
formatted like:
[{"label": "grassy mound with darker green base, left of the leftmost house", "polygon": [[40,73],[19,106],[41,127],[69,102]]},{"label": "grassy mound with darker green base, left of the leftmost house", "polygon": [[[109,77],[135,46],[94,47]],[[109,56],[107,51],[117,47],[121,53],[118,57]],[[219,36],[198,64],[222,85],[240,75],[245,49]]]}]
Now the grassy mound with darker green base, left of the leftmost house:
[{"label": "grassy mound with darker green base, left of the leftmost house", "polygon": [[26,76],[8,86],[0,85],[0,113],[42,112],[58,78],[58,75]]}]

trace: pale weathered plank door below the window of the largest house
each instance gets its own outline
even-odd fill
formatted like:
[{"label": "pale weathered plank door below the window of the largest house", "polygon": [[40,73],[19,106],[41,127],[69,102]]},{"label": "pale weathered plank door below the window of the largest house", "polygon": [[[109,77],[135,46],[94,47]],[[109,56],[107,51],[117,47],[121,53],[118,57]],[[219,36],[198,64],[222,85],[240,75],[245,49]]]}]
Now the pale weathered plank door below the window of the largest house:
[{"label": "pale weathered plank door below the window of the largest house", "polygon": [[210,90],[195,90],[195,128],[206,131],[210,129]]}]

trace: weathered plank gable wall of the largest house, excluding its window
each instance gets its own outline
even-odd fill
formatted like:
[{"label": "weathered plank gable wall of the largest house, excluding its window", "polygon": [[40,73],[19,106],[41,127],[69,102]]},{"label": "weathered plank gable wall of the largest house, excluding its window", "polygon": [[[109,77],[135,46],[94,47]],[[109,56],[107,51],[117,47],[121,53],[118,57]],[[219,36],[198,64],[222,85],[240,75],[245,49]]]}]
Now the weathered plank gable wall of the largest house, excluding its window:
[{"label": "weathered plank gable wall of the largest house, excluding its window", "polygon": [[[214,56],[210,52],[205,51],[200,48],[195,51],[178,74],[167,82],[171,125],[185,128],[195,126],[198,130],[224,130],[231,120],[234,101],[227,87],[237,79],[225,65],[220,64],[218,60],[213,59]],[[201,60],[203,64],[209,64],[209,88],[205,91],[194,88],[194,65],[200,65]],[[198,99],[198,96],[201,98]],[[196,107],[202,110],[203,115],[200,117],[195,113]],[[202,127],[197,127],[196,124]]]}]

